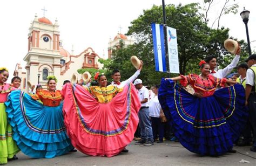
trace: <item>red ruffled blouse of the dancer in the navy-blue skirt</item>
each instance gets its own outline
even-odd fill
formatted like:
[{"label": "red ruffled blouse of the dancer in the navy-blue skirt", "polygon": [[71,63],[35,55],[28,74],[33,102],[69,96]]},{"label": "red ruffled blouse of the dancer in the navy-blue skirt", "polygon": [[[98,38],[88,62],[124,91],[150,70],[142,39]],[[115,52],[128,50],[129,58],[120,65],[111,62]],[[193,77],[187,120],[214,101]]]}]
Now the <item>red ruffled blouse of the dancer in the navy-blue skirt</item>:
[{"label": "red ruffled blouse of the dancer in the navy-blue skirt", "polygon": [[201,78],[197,74],[189,74],[189,75],[180,75],[183,80],[180,81],[182,86],[186,86],[190,84],[193,86],[195,92],[204,92],[204,97],[211,96],[214,94],[217,86],[225,87],[225,83],[227,81],[226,78],[220,79],[216,78],[213,75],[209,74],[207,79]]}]

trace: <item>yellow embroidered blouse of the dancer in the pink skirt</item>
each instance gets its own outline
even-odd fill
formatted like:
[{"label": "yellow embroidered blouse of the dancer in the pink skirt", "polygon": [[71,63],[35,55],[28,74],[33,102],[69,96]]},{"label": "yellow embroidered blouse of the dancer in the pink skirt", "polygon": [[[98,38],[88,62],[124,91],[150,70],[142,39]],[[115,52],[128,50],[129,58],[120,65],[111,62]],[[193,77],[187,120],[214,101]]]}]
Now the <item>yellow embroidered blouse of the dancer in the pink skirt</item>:
[{"label": "yellow embroidered blouse of the dancer in the pink skirt", "polygon": [[99,103],[108,103],[115,95],[117,95],[117,93],[123,91],[123,88],[117,88],[113,85],[107,87],[90,86],[85,89],[95,96]]}]

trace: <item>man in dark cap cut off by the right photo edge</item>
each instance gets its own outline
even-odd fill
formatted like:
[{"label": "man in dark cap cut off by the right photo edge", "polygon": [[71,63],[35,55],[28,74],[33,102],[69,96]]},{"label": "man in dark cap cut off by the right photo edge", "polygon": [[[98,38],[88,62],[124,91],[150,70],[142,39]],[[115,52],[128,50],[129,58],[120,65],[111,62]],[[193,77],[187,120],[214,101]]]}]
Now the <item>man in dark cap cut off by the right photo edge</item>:
[{"label": "man in dark cap cut off by the right photo edge", "polygon": [[246,72],[245,99],[249,108],[250,120],[253,127],[253,146],[251,151],[256,152],[256,54],[252,54],[246,60],[248,70]]}]

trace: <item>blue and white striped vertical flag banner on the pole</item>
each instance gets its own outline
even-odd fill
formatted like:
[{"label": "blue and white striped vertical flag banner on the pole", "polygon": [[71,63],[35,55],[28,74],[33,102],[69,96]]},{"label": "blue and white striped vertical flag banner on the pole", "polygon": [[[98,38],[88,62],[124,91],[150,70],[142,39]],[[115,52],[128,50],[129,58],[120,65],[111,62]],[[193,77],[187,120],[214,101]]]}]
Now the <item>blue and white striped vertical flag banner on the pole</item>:
[{"label": "blue and white striped vertical flag banner on the pole", "polygon": [[151,24],[153,46],[154,46],[154,61],[156,71],[166,72],[165,47],[164,47],[164,26],[159,24]]}]

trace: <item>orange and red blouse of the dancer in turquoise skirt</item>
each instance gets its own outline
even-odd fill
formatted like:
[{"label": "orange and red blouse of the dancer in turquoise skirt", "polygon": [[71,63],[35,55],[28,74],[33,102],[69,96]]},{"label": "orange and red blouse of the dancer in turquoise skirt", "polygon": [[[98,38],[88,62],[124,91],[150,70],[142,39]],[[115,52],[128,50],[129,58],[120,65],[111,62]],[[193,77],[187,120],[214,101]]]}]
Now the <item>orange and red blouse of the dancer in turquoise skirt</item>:
[{"label": "orange and red blouse of the dancer in turquoise skirt", "polygon": [[32,94],[31,97],[35,100],[41,100],[43,105],[49,107],[56,107],[60,105],[63,97],[59,90],[50,92],[45,89],[38,91],[36,94]]}]

